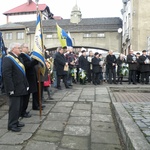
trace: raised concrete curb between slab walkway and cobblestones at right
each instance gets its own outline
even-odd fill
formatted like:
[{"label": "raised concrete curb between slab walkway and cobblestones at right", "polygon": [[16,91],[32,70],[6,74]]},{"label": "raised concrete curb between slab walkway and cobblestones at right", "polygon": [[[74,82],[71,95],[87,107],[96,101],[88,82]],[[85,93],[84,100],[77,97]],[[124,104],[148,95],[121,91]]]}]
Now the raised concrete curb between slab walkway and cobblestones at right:
[{"label": "raised concrete curb between slab walkway and cobblestones at right", "polygon": [[133,121],[126,109],[120,102],[116,102],[113,93],[108,88],[111,99],[111,107],[115,116],[118,130],[121,134],[126,150],[150,150],[150,144],[147,142],[139,127]]}]

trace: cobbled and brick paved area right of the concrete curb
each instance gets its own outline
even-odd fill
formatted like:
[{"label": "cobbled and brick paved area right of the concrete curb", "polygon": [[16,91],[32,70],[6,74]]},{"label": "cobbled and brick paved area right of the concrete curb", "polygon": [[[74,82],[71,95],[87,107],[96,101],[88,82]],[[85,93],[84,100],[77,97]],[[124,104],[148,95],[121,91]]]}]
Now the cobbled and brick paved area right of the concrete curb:
[{"label": "cobbled and brick paved area right of the concrete curb", "polygon": [[150,143],[150,91],[148,86],[114,90],[116,102],[121,102],[144,137]]}]

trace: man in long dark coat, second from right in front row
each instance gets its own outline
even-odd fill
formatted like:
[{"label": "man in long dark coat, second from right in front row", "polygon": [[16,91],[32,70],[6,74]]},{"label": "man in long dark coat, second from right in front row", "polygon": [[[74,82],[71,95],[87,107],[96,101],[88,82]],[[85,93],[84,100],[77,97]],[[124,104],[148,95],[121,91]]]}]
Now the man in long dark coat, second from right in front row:
[{"label": "man in long dark coat, second from right in front row", "polygon": [[136,84],[136,71],[138,63],[133,50],[130,50],[130,53],[127,55],[127,63],[129,64],[129,84],[131,84],[131,81],[133,84]]}]

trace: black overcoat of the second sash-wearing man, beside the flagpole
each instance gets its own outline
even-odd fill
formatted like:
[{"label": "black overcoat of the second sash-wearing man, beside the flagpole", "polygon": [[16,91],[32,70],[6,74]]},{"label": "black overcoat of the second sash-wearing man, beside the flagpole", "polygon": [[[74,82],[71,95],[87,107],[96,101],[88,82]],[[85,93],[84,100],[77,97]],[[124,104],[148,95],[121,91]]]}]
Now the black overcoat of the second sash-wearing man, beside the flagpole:
[{"label": "black overcoat of the second sash-wearing man, beside the flagpole", "polygon": [[38,61],[31,59],[24,53],[21,53],[19,57],[22,58],[25,66],[26,77],[29,83],[29,93],[37,92],[37,75],[34,66],[38,64]]}]

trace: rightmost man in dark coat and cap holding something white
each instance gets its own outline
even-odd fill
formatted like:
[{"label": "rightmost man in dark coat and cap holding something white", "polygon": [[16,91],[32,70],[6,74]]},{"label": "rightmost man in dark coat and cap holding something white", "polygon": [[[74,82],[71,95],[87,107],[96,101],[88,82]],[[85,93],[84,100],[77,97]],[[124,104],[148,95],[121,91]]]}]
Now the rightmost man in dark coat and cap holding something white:
[{"label": "rightmost man in dark coat and cap holding something white", "polygon": [[[142,55],[139,57],[140,72],[141,72],[141,84],[149,83],[149,72],[150,72],[150,56],[146,55],[146,50],[142,51]],[[144,81],[146,80],[146,81]]]}]

